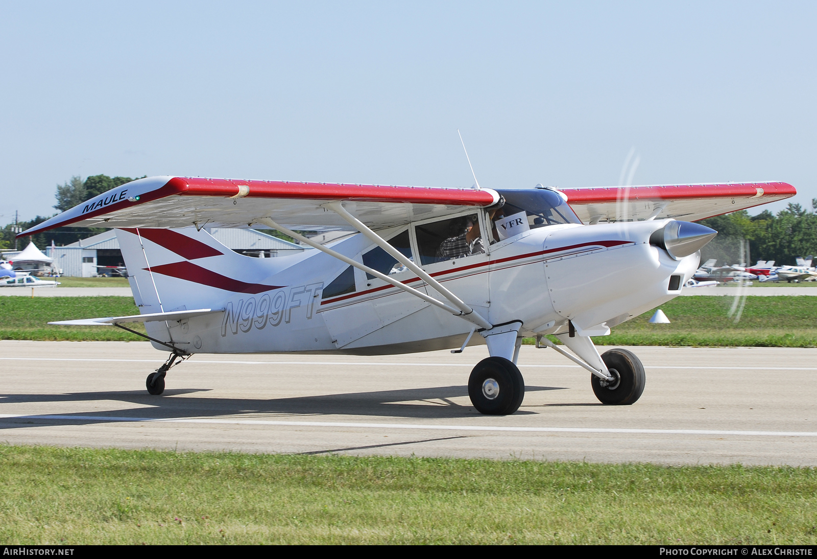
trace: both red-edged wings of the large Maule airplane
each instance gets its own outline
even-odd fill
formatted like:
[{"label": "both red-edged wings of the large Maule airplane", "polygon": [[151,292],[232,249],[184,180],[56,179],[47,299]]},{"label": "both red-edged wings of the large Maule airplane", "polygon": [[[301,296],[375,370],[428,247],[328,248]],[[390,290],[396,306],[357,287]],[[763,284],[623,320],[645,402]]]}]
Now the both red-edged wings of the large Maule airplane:
[{"label": "both red-edged wings of the large Maule airplane", "polygon": [[[585,223],[676,217],[697,221],[786,199],[785,182],[721,185],[631,186],[562,190]],[[344,185],[319,182],[240,181],[200,177],[150,177],[128,182],[24,231],[60,226],[178,228],[247,227],[270,217],[294,229],[346,229],[322,206],[335,200],[373,229],[399,226],[490,206],[494,190],[420,186]]]}]

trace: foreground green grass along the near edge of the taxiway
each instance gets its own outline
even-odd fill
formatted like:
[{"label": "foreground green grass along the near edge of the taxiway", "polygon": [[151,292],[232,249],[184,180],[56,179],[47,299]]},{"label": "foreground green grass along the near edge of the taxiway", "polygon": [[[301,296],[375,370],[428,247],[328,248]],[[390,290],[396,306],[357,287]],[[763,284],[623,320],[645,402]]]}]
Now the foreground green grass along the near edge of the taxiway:
[{"label": "foreground green grass along the near edge of the taxiway", "polygon": [[0,541],[817,543],[817,470],[0,446]]}]

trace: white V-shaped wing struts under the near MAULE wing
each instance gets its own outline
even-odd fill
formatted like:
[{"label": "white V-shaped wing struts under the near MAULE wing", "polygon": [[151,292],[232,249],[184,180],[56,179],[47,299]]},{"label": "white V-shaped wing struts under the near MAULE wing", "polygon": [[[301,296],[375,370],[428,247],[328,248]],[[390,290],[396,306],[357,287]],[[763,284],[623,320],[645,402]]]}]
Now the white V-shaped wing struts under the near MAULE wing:
[{"label": "white V-shaped wing struts under the near MAULE wing", "polygon": [[[459,308],[454,308],[453,306],[446,305],[444,302],[441,302],[441,301],[435,299],[434,297],[431,297],[430,295],[427,295],[426,293],[422,293],[422,291],[419,291],[419,290],[417,290],[415,288],[409,287],[408,285],[403,284],[400,281],[397,281],[396,279],[391,278],[390,276],[388,276],[386,274],[383,274],[380,271],[374,270],[373,268],[369,268],[368,266],[364,266],[360,262],[357,262],[357,261],[351,259],[350,257],[347,257],[347,256],[345,256],[345,255],[343,255],[341,253],[337,253],[332,248],[324,247],[324,245],[322,245],[322,244],[315,243],[314,240],[307,239],[305,236],[299,235],[295,231],[293,231],[291,229],[288,229],[287,227],[284,227],[282,225],[279,225],[275,221],[272,221],[272,219],[270,217],[261,217],[260,219],[257,219],[256,221],[258,223],[263,223],[266,226],[270,226],[273,229],[277,229],[277,230],[281,231],[282,233],[284,233],[286,235],[289,235],[293,239],[298,239],[299,241],[301,241],[301,243],[308,244],[312,248],[317,248],[319,251],[321,251],[323,253],[327,253],[329,256],[335,257],[335,258],[337,258],[338,260],[340,260],[342,262],[346,262],[346,264],[349,264],[350,266],[355,266],[355,268],[358,268],[359,270],[363,270],[364,272],[366,272],[368,274],[371,274],[371,275],[373,275],[373,276],[375,276],[377,278],[380,278],[383,281],[386,281],[387,283],[394,285],[395,288],[403,289],[403,291],[405,291],[407,293],[411,293],[412,295],[422,299],[423,301],[430,302],[434,306],[439,306],[444,311],[449,311],[452,315],[459,316],[460,318],[462,318],[464,320],[467,320],[468,322],[471,322],[471,324],[476,324],[480,328],[484,328],[484,329],[493,328],[493,326],[487,320],[482,318],[482,316],[480,316],[473,309],[471,309],[470,306],[467,306],[464,302],[460,301],[460,299],[458,297],[453,295],[453,293],[451,293],[448,289],[441,286],[439,284],[439,282],[437,282],[435,279],[431,279],[431,277],[429,277],[428,279],[431,279],[431,281],[428,281],[428,279],[426,279],[425,277],[422,277],[423,275],[428,276],[426,274],[426,272],[423,272],[422,270],[421,270],[422,275],[417,274],[417,275],[419,275],[421,277],[421,279],[426,280],[426,282],[431,284],[432,287],[436,288],[437,291],[439,291],[440,293],[443,293],[447,298],[449,298],[449,301],[453,302],[455,305],[457,305],[457,302],[459,302],[460,305],[464,306],[465,309],[467,309],[468,311],[465,311],[462,308],[462,306],[460,306],[460,305],[457,305]],[[360,225],[364,226],[362,223]],[[366,226],[364,226],[364,227],[366,227]],[[366,227],[366,229],[369,230],[368,227]],[[391,254],[391,251],[389,251],[388,248],[391,248],[392,251],[397,253],[397,251],[394,249],[394,247],[391,246],[391,244],[388,244],[385,240],[382,239],[382,237],[380,237],[379,235],[374,233],[374,231],[371,231],[371,230],[369,230],[369,231],[372,233],[372,235],[374,235],[374,237],[377,238],[377,240],[375,240],[375,242],[377,243],[378,246],[382,247],[384,250],[386,250],[390,254]],[[360,231],[360,232],[363,233],[364,231]],[[366,235],[366,236],[368,237],[368,235]],[[369,237],[369,238],[371,238],[371,237]],[[388,248],[383,247],[383,244],[385,244],[386,247],[388,247]],[[400,254],[400,258],[399,258],[400,262],[402,262],[403,264],[405,264],[406,262],[409,262],[411,264],[411,266],[413,266],[415,268],[417,267],[417,266],[414,266],[414,262],[409,261],[408,258],[403,256],[403,254],[401,254],[401,253],[398,253],[398,254]],[[392,254],[392,256],[394,256],[394,255]],[[409,268],[409,269],[412,269],[412,268]],[[412,271],[414,271],[414,270],[412,269]],[[415,272],[415,273],[417,273],[417,272]],[[440,288],[437,288],[435,284],[440,285]],[[451,297],[454,297],[454,299],[456,299],[457,302],[454,302],[448,296],[447,293],[450,293]]]}]

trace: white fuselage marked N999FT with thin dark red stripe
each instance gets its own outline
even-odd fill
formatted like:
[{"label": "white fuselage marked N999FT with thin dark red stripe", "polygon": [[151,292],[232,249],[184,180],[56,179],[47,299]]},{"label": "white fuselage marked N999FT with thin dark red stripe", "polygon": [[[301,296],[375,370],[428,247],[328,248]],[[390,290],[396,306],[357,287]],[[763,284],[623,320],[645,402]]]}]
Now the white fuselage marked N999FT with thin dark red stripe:
[{"label": "white fuselage marked N999FT with thin dark red stripe", "polygon": [[[596,331],[594,327],[620,324],[676,297],[693,275],[698,253],[674,260],[650,245],[650,234],[665,222],[539,227],[490,245],[488,253],[423,268],[491,324],[520,320],[520,335],[564,333],[568,321],[580,331]],[[221,246],[203,230],[180,231],[209,246]],[[118,237],[143,313],[225,309],[181,322],[146,323],[151,336],[190,353],[431,351],[459,347],[472,328],[462,318],[382,279],[367,279],[356,269],[353,292],[324,297],[324,288],[346,264],[318,250],[268,259],[222,250],[221,256],[192,261],[221,274],[239,271],[233,276],[245,285],[261,284],[245,293],[231,293],[151,273],[148,267],[158,270],[180,257],[162,247],[149,248],[149,241],[143,252],[136,246],[136,235],[127,231],[118,231]],[[354,235],[332,248],[359,259],[373,246],[363,235]],[[672,275],[680,277],[675,280]],[[392,277],[444,300],[410,271]],[[475,343],[484,339],[474,336],[471,344]],[[167,350],[156,343],[154,347]]]}]

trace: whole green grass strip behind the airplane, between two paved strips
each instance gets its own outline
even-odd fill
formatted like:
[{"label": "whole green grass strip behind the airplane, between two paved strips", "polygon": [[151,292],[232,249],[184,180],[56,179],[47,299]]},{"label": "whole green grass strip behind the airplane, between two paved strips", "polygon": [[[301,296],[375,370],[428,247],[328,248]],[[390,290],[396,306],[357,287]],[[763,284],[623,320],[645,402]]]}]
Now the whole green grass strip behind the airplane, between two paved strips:
[{"label": "whole green grass strip behind the airplane, between two paved strips", "polygon": [[[650,324],[650,311],[593,339],[607,346],[817,347],[817,297],[746,297],[738,322],[730,317],[733,303],[733,297],[676,297],[661,306],[671,324]],[[0,339],[138,340],[114,327],[47,324],[138,313],[132,297],[0,297]],[[144,332],[141,324],[134,329]]]}]

